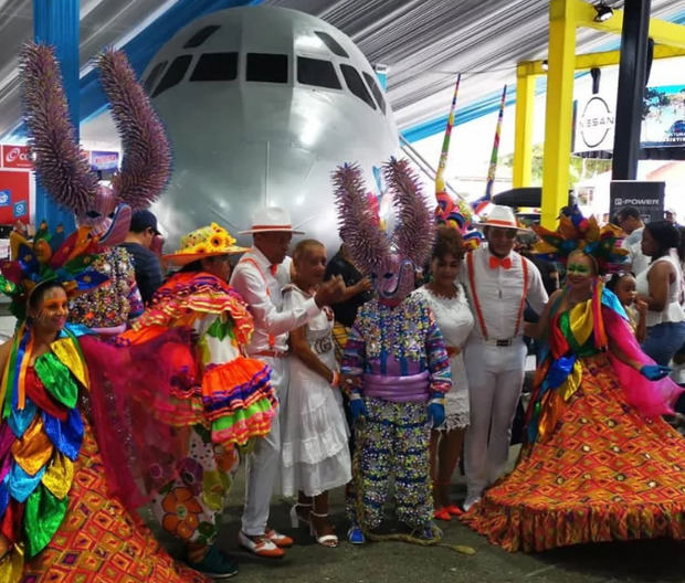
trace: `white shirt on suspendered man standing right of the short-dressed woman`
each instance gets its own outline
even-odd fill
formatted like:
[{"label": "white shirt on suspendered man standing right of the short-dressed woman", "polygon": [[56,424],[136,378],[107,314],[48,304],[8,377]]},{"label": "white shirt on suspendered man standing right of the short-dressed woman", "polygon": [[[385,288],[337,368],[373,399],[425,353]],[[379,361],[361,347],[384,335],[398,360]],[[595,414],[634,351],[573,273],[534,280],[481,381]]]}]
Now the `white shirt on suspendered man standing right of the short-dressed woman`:
[{"label": "white shirt on suspendered man standing right of the short-dressed woman", "polygon": [[468,292],[468,300],[476,320],[472,337],[483,339],[475,297],[477,297],[477,304],[481,307],[488,339],[505,340],[520,336],[524,330],[523,314],[518,329],[516,328],[516,322],[521,307],[521,296],[524,295],[523,262],[526,262],[528,271],[526,299],[538,314],[542,312],[548,300],[540,272],[531,261],[518,253],[509,253],[508,258],[512,259],[512,267],[508,269],[499,266],[491,268],[489,258],[492,254],[486,247],[478,247],[470,253],[473,255],[475,289],[471,287],[468,262],[466,259],[464,259],[465,265],[462,269],[462,283]]}]

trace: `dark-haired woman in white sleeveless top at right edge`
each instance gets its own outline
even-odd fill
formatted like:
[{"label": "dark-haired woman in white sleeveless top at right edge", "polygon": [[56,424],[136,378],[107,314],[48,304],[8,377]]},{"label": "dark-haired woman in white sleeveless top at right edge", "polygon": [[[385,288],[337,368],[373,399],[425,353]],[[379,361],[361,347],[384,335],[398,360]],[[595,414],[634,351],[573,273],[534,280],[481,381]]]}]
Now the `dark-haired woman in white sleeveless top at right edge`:
[{"label": "dark-haired woman in white sleeveless top at right edge", "polygon": [[685,342],[685,311],[679,304],[683,274],[675,256],[679,240],[679,231],[668,221],[647,223],[642,233],[642,253],[652,257],[649,268],[637,274],[637,297],[649,307],[642,350],[664,367]]}]

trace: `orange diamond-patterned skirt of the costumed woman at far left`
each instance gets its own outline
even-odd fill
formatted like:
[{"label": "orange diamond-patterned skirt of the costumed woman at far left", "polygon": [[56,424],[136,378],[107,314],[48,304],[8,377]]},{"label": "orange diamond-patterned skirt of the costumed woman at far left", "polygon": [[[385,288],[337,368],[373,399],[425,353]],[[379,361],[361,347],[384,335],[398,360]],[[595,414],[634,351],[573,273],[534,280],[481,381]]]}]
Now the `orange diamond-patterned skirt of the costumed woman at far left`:
[{"label": "orange diamond-patterned skirt of the costumed woman at far left", "polygon": [[48,547],[24,564],[22,583],[209,583],[175,563],[138,517],[107,491],[89,425],[68,492],[66,516]]}]

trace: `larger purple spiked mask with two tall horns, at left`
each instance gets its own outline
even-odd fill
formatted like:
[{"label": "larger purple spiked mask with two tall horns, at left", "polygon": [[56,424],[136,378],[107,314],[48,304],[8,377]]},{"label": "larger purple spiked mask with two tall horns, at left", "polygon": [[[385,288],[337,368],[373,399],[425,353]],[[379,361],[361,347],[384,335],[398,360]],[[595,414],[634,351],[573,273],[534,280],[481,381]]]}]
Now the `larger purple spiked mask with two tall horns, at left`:
[{"label": "larger purple spiked mask with two tall horns, at left", "polygon": [[97,65],[124,150],[112,189],[98,184],[81,152],[54,50],[44,44],[29,43],[21,54],[24,119],[45,190],[76,214],[80,226],[91,226],[99,243],[117,245],[128,233],[133,211],[147,209],[164,191],[171,153],[164,126],[126,55],[105,51]]}]

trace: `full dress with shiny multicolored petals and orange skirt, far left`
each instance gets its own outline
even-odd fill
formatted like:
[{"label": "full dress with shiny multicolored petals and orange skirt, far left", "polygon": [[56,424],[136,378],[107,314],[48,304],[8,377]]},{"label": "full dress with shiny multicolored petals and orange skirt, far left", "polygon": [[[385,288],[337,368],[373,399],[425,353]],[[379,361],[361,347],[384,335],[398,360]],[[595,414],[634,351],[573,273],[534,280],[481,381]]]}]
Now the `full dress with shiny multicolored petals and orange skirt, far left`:
[{"label": "full dress with shiny multicolored petals and orange skirt, far left", "polygon": [[15,336],[0,403],[0,581],[205,582],[176,565],[112,496],[84,411],[88,368],[77,329],[64,328],[31,365]]}]

